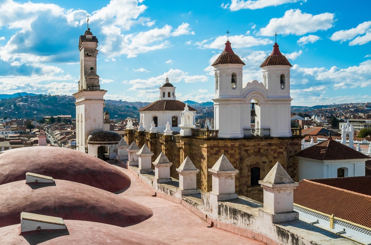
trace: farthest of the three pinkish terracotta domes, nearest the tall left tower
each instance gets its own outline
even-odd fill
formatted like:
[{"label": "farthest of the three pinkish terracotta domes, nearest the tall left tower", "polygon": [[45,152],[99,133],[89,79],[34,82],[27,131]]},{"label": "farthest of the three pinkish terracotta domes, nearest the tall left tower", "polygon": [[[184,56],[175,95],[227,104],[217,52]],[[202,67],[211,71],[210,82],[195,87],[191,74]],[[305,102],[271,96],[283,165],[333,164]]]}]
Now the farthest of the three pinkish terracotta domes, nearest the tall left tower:
[{"label": "farthest of the three pinkish terracotta domes, nearest the tall left tower", "polygon": [[90,185],[109,192],[130,186],[127,175],[109,163],[78,150],[36,146],[0,154],[0,185],[24,180],[26,172]]}]

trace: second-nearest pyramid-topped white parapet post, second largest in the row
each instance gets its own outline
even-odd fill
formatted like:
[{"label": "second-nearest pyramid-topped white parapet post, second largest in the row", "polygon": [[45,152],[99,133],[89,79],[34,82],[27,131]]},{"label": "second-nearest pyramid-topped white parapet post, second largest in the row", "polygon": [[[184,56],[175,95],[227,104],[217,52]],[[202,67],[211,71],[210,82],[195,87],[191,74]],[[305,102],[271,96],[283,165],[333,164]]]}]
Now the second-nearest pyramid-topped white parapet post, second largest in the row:
[{"label": "second-nearest pyramid-topped white parapet post, second largest in the row", "polygon": [[224,154],[217,160],[213,168],[209,168],[209,172],[213,175],[210,202],[212,199],[211,196],[216,196],[217,201],[225,201],[238,197],[235,189],[234,176],[239,171],[233,168]]}]

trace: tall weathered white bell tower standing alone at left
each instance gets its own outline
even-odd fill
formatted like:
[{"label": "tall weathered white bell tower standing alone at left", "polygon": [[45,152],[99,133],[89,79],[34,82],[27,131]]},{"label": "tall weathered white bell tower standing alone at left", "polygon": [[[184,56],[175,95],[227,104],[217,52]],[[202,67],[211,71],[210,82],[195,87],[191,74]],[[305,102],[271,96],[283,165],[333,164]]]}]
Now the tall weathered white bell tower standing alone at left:
[{"label": "tall weathered white bell tower standing alone at left", "polygon": [[80,81],[76,99],[76,149],[88,152],[86,140],[91,132],[103,130],[103,96],[107,92],[100,89],[99,76],[96,74],[98,39],[90,28],[80,36]]}]

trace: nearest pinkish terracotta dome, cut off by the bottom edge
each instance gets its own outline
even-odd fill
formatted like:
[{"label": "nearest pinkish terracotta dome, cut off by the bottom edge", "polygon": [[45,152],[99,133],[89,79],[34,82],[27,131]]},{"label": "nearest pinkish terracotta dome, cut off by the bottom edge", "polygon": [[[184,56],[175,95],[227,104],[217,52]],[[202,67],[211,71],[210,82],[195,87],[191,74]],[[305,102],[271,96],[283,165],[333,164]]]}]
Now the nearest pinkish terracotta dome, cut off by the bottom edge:
[{"label": "nearest pinkish terracotta dome, cut off by the bottom edge", "polygon": [[0,244],[110,244],[162,245],[167,244],[145,234],[114,225],[89,221],[65,220],[66,230],[25,232],[19,235],[19,226],[0,228]]}]

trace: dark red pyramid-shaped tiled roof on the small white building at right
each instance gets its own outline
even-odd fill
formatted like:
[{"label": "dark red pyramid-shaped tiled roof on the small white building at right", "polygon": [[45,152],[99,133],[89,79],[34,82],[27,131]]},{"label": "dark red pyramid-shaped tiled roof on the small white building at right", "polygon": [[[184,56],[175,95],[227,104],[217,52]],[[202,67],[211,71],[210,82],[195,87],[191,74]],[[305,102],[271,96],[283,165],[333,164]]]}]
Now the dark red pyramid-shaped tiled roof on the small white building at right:
[{"label": "dark red pyramid-shaped tiled roof on the small white building at right", "polygon": [[325,140],[322,143],[308,147],[295,156],[315,160],[346,160],[346,159],[368,159],[369,156],[358,152],[332,139]]}]

